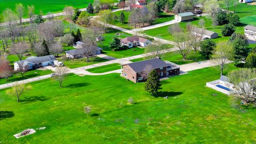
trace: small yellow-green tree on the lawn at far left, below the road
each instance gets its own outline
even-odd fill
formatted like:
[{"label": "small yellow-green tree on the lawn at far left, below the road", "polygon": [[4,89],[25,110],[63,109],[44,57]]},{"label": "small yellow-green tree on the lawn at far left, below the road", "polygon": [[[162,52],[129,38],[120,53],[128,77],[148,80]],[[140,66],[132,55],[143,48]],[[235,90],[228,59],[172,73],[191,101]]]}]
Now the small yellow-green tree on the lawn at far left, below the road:
[{"label": "small yellow-green tree on the lawn at far left, below the road", "polygon": [[23,93],[29,91],[32,87],[30,85],[16,83],[11,89],[7,90],[8,95],[15,95],[17,101],[20,102],[20,97]]}]

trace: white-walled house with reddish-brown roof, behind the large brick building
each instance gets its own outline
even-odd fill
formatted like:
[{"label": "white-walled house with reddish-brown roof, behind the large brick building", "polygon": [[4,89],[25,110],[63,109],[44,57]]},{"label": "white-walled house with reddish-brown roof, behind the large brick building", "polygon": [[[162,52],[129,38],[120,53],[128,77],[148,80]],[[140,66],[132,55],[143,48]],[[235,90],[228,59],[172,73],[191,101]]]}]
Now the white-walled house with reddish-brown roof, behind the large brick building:
[{"label": "white-walled house with reddish-brown roof, behind the large brick building", "polygon": [[151,41],[149,41],[146,38],[142,38],[139,36],[131,36],[131,37],[126,37],[121,39],[121,43],[122,45],[126,45],[129,48],[134,47],[134,46],[147,46],[149,44],[151,44]]}]

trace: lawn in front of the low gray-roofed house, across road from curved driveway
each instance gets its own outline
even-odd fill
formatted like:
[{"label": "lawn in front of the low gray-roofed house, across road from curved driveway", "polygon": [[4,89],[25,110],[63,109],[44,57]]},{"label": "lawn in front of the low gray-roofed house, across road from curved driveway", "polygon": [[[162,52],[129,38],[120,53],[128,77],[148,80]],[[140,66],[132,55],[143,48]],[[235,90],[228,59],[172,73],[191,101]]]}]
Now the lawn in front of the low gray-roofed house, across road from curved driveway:
[{"label": "lawn in front of the low gray-roofed house, across road from curved driveway", "polygon": [[62,61],[64,65],[67,66],[68,68],[78,68],[78,67],[93,65],[95,63],[108,61],[106,59],[102,59],[99,57],[90,58],[89,62],[86,62],[87,58],[74,59],[74,60],[71,60],[71,59],[62,60],[61,58],[58,58],[58,60]]}]

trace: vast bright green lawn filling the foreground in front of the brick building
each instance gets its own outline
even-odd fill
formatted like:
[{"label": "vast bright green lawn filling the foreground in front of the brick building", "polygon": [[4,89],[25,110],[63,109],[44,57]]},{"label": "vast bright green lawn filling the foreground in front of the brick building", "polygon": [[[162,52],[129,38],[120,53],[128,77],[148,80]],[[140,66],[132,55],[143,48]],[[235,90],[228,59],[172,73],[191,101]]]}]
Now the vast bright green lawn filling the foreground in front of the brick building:
[{"label": "vast bright green lawn filling the foreground in front of the brick building", "polygon": [[[234,69],[232,65],[229,69]],[[53,79],[30,83],[16,102],[0,90],[3,143],[254,143],[255,109],[231,103],[205,87],[219,78],[217,68],[190,71],[162,81],[162,96],[152,97],[144,83],[119,74],[69,75],[59,88]],[[227,71],[225,71],[227,74]],[[213,96],[217,94],[217,96]],[[127,103],[133,98],[134,104]],[[83,108],[90,106],[87,116]],[[45,130],[15,139],[22,130]]]}]

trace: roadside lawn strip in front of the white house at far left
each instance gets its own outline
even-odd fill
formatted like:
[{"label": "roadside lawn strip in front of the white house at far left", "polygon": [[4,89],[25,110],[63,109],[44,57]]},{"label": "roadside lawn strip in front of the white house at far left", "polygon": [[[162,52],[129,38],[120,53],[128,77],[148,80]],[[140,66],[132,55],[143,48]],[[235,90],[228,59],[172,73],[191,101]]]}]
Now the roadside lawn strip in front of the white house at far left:
[{"label": "roadside lawn strip in front of the white house at far left", "polygon": [[30,71],[27,71],[27,73],[24,75],[24,77],[22,77],[21,74],[18,73],[18,74],[13,74],[13,76],[10,77],[8,81],[6,81],[5,78],[0,78],[0,84],[17,82],[17,81],[21,81],[23,79],[47,75],[47,74],[51,74],[51,73],[52,73],[51,70],[30,70]]}]

